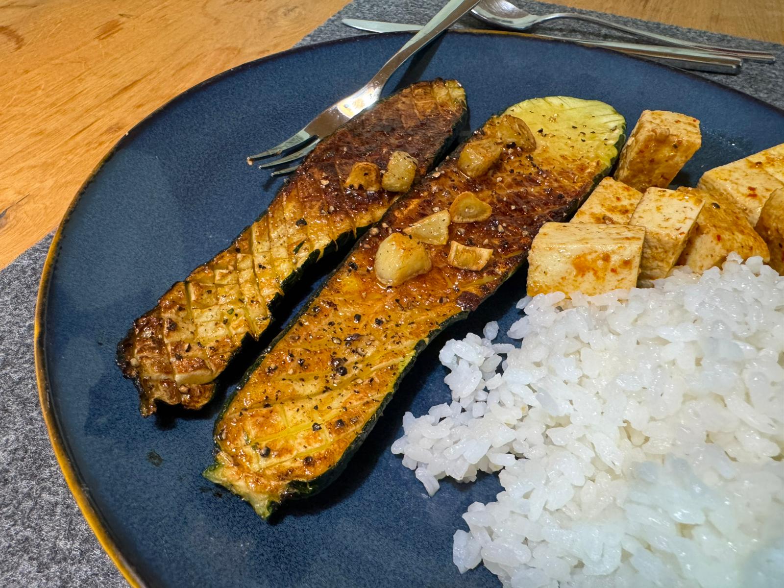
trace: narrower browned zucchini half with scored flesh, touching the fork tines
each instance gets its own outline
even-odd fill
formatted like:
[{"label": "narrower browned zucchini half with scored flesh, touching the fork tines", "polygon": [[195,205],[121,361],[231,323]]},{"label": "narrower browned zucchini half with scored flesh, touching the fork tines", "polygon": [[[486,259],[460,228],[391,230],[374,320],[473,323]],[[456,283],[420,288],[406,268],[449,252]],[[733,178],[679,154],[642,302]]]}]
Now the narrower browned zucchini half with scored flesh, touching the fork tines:
[{"label": "narrower browned zucchini half with scored flesh, touching the fork tines", "polygon": [[321,141],[259,220],[133,322],[118,363],[139,389],[142,415],[157,401],[205,405],[243,339],[267,328],[271,307],[302,270],[379,220],[399,193],[350,183],[356,165],[380,175],[396,154],[410,183],[434,165],[465,114],[458,82],[418,82]]}]

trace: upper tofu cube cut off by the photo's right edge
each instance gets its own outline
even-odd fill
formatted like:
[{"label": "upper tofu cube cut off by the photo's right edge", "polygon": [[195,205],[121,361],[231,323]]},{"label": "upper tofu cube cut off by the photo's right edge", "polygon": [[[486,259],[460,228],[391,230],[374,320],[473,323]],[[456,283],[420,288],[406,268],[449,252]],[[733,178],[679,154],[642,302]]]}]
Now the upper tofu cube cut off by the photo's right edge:
[{"label": "upper tofu cube cut off by the photo's right edge", "polygon": [[709,169],[698,188],[732,198],[746,212],[752,226],[770,195],[784,188],[784,143],[747,158]]}]

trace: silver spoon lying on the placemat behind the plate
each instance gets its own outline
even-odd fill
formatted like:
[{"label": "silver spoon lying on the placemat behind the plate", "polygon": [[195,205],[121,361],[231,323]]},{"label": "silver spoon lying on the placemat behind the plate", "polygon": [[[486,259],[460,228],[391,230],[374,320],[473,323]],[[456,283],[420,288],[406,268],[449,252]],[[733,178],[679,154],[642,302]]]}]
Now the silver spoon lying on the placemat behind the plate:
[{"label": "silver spoon lying on the placemat behind the plate", "polygon": [[552,14],[531,14],[521,8],[517,8],[511,2],[506,0],[483,0],[472,11],[474,16],[486,23],[495,24],[497,27],[506,28],[511,31],[524,31],[535,24],[543,23],[546,20],[555,20],[558,18],[571,18],[575,20],[585,20],[593,24],[601,24],[604,27],[614,28],[617,31],[624,33],[634,34],[638,37],[653,39],[666,45],[674,45],[676,47],[688,47],[689,49],[702,49],[713,53],[723,53],[724,55],[731,55],[741,57],[742,59],[762,61],[767,64],[775,62],[776,58],[772,53],[766,51],[751,51],[746,49],[728,49],[725,47],[717,47],[714,45],[702,45],[700,43],[691,43],[683,41],[674,37],[667,37],[664,34],[652,33],[649,31],[641,31],[637,28],[626,27],[623,24],[612,23],[609,20],[597,18],[597,16],[590,16],[588,14],[579,13],[552,13]]}]

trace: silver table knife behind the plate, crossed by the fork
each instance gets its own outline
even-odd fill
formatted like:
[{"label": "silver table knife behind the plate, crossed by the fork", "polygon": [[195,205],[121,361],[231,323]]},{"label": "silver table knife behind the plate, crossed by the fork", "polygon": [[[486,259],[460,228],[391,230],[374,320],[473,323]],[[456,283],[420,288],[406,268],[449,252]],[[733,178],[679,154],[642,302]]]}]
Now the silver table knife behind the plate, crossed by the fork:
[{"label": "silver table knife behind the plate, crossed by the fork", "polygon": [[[360,31],[370,31],[372,33],[410,33],[419,31],[422,27],[416,24],[385,23],[381,20],[361,20],[355,18],[344,18],[343,24],[348,27],[359,29]],[[495,32],[495,31],[485,31]],[[521,34],[524,37],[543,38],[550,41],[564,41],[578,43],[587,47],[603,47],[613,49],[620,53],[647,57],[653,60],[666,61],[667,64],[684,69],[695,71],[711,71],[718,74],[740,73],[742,61],[738,57],[717,55],[699,49],[684,49],[682,47],[670,47],[668,45],[646,45],[643,43],[624,43],[615,41],[592,41],[583,38],[556,37],[550,34],[530,34],[530,33],[506,33]]]}]

